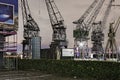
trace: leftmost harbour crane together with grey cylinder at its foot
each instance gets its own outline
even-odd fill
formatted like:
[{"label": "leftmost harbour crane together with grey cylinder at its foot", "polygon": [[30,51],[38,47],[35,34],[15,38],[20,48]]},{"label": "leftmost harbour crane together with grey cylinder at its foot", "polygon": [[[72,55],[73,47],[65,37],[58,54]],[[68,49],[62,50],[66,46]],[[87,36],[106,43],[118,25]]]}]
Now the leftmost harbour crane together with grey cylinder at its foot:
[{"label": "leftmost harbour crane together with grey cylinder at its foot", "polygon": [[23,57],[40,59],[41,37],[39,36],[39,26],[32,18],[27,0],[21,0],[21,9],[23,16],[24,40]]}]

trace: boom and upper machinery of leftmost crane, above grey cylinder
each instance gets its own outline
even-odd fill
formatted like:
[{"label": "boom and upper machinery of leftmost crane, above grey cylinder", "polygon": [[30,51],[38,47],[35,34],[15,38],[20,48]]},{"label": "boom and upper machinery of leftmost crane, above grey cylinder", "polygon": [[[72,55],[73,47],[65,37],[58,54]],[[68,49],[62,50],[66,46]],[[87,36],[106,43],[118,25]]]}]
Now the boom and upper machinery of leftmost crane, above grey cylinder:
[{"label": "boom and upper machinery of leftmost crane, above grey cylinder", "polygon": [[32,36],[38,36],[40,31],[37,23],[31,16],[31,12],[28,6],[27,0],[21,0],[23,25],[24,25],[24,38],[30,38]]}]

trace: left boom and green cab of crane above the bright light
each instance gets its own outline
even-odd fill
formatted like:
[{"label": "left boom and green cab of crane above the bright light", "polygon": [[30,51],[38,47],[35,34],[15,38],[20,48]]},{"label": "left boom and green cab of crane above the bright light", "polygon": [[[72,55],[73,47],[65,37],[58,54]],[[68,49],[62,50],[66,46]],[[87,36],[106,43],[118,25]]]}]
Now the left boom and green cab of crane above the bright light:
[{"label": "left boom and green cab of crane above the bright light", "polygon": [[85,19],[90,15],[97,3],[98,0],[94,0],[94,2],[85,11],[85,13],[77,21],[73,22],[74,24],[77,24],[76,30],[73,31],[73,36],[76,39],[86,39],[86,37],[88,36],[88,26],[86,26]]}]

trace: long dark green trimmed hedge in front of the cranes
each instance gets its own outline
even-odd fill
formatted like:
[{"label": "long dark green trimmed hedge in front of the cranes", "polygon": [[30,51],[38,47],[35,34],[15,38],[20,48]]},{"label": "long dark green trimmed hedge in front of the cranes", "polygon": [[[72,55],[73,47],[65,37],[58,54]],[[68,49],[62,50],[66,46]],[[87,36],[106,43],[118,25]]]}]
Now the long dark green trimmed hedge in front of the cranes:
[{"label": "long dark green trimmed hedge in front of the cranes", "polygon": [[40,70],[67,77],[120,80],[120,63],[73,60],[19,60],[19,70]]}]

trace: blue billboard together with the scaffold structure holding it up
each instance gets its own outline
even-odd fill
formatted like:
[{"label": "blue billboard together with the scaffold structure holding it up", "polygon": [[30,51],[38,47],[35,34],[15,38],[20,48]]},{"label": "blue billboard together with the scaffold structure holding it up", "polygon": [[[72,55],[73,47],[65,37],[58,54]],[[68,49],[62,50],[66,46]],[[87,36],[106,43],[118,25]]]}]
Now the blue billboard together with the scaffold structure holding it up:
[{"label": "blue billboard together with the scaffold structure holding it up", "polygon": [[[5,53],[17,53],[18,0],[0,1],[0,69]],[[4,16],[6,15],[6,16]]]}]

